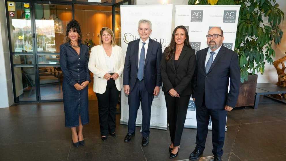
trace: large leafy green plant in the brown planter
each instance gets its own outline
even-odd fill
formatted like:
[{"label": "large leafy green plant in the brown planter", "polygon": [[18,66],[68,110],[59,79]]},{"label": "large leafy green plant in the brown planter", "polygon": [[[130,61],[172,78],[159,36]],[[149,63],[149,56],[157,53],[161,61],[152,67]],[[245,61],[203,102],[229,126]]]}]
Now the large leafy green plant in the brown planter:
[{"label": "large leafy green plant in the brown planter", "polygon": [[255,71],[264,73],[265,62],[273,64],[272,43],[281,43],[279,24],[284,13],[276,0],[189,0],[189,5],[241,5],[236,33],[235,51],[238,53],[240,81],[247,81]]}]

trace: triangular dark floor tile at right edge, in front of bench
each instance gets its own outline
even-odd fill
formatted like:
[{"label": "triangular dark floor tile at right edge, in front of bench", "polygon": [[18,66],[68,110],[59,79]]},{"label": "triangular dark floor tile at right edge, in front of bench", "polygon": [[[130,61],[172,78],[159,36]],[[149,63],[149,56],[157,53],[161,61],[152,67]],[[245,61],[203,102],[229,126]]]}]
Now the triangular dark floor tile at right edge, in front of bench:
[{"label": "triangular dark floor tile at right edge, in front of bench", "polygon": [[255,136],[263,138],[286,154],[286,120],[242,125]]}]

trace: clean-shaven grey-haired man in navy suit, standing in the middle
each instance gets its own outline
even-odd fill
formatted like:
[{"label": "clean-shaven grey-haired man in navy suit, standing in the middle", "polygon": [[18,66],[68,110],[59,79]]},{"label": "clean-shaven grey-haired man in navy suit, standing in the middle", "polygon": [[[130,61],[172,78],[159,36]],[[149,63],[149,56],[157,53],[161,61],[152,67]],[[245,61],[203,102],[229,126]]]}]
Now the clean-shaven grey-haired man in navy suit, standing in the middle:
[{"label": "clean-shaven grey-haired man in navy suit, standing in the middle", "polygon": [[124,142],[128,143],[135,135],[137,111],[142,108],[142,146],[149,144],[151,105],[154,96],[162,86],[160,62],[161,44],[149,38],[152,24],[149,20],[138,22],[140,39],[128,43],[123,70],[124,92],[128,96],[128,132]]}]

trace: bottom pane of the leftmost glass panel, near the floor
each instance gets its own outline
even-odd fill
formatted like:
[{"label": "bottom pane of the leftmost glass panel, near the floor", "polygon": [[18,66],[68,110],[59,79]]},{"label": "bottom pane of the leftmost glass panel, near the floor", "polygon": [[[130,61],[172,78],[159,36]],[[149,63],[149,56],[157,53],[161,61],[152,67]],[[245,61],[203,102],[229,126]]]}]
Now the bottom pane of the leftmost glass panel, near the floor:
[{"label": "bottom pane of the leftmost glass panel, near the floor", "polygon": [[16,101],[36,101],[34,67],[14,67]]}]

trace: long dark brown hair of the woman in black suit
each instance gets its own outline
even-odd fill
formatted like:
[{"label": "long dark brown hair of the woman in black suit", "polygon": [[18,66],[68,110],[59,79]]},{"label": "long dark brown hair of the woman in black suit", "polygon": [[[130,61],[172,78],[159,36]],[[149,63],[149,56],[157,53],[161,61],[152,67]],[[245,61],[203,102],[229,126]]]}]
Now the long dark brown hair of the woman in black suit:
[{"label": "long dark brown hair of the woman in black suit", "polygon": [[164,51],[166,61],[170,60],[173,57],[173,55],[175,55],[175,51],[174,51],[174,49],[176,48],[175,34],[176,34],[177,29],[183,29],[185,31],[185,35],[187,36],[187,38],[185,39],[184,45],[186,45],[187,47],[191,47],[190,42],[189,42],[189,34],[188,34],[186,27],[185,26],[177,26],[173,31],[170,45],[168,47],[166,47],[166,49]]}]

